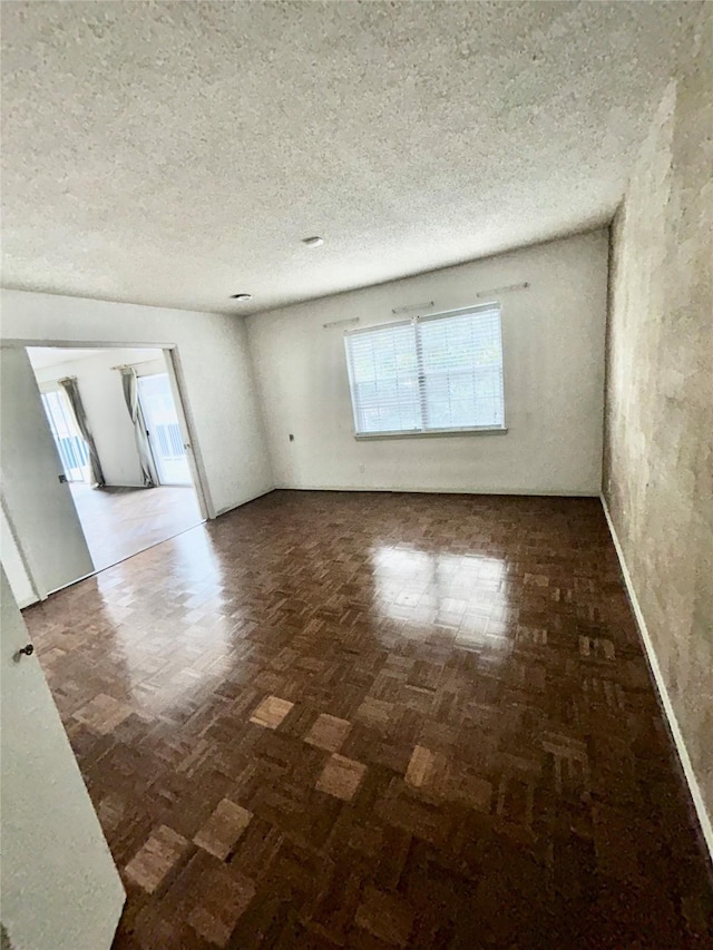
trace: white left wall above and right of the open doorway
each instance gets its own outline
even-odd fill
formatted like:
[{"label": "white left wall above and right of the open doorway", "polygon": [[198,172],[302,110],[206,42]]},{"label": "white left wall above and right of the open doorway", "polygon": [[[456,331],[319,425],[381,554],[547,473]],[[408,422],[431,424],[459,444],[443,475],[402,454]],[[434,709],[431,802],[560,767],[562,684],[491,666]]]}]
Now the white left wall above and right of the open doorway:
[{"label": "white left wall above and right of the open doorway", "polygon": [[237,316],[2,291],[3,340],[177,346],[211,513],[273,487],[244,321]]}]

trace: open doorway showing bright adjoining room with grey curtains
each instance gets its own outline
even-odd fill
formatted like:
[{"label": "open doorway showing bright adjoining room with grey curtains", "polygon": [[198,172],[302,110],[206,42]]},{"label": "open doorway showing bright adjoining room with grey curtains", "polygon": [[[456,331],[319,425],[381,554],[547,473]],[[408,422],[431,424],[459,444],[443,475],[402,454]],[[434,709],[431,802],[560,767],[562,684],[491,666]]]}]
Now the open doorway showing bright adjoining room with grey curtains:
[{"label": "open doorway showing bright adjoining room with grey curtains", "polygon": [[[69,488],[95,570],[205,520],[183,407],[176,404],[180,394],[164,351],[28,346],[27,353],[61,464],[58,476]],[[127,374],[140,411],[127,396]]]}]

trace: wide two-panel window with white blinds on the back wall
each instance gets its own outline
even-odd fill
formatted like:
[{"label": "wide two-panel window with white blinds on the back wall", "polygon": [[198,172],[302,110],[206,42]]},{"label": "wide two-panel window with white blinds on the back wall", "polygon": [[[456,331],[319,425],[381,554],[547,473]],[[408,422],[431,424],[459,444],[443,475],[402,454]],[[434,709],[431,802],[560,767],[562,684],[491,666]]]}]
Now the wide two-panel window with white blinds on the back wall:
[{"label": "wide two-panel window with white blinds on the back wall", "polygon": [[500,308],[344,334],[356,435],[505,429]]}]

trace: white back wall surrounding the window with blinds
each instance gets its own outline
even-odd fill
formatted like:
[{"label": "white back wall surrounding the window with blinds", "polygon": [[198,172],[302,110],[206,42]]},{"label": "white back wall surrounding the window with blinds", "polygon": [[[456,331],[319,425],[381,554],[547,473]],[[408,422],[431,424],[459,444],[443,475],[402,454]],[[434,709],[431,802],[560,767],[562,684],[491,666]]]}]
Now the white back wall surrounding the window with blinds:
[{"label": "white back wall surrounding the window with blinds", "polygon": [[[277,486],[598,494],[607,254],[599,231],[248,317]],[[524,281],[500,296],[507,433],[354,439],[344,327],[324,323]]]}]

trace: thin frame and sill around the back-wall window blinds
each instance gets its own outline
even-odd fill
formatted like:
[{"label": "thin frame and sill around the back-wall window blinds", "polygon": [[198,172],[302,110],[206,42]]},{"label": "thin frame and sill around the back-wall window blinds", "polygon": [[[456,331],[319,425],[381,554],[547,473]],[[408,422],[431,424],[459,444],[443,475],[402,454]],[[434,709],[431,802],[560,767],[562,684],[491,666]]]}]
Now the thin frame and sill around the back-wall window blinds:
[{"label": "thin frame and sill around the back-wall window blinds", "polygon": [[[358,383],[354,381],[353,366],[352,366],[352,354],[349,347],[349,340],[353,336],[364,334],[364,333],[375,333],[380,330],[390,330],[395,326],[404,326],[411,325],[413,326],[413,336],[416,344],[416,358],[418,363],[418,386],[419,386],[419,400],[420,400],[420,409],[421,409],[421,423],[427,417],[426,413],[426,394],[424,394],[424,381],[426,373],[423,371],[423,362],[421,355],[421,346],[420,339],[418,334],[418,324],[427,323],[431,321],[441,321],[448,320],[450,317],[465,316],[470,313],[477,313],[481,311],[487,313],[489,311],[496,310],[498,313],[498,331],[499,331],[499,343],[500,343],[500,394],[501,394],[501,404],[502,404],[502,423],[497,425],[453,425],[445,429],[394,429],[394,430],[384,430],[384,431],[372,431],[372,432],[360,432],[359,431],[359,408],[356,402],[354,401],[354,393],[358,388]],[[430,437],[443,437],[443,435],[495,435],[499,433],[505,433],[508,431],[507,421],[506,421],[506,400],[505,400],[505,351],[502,347],[502,307],[499,302],[492,301],[486,304],[476,304],[473,306],[463,306],[458,307],[457,310],[448,310],[441,311],[439,313],[429,313],[423,315],[417,315],[413,317],[407,317],[401,320],[391,321],[389,323],[374,323],[370,326],[360,326],[356,330],[348,330],[344,332],[344,356],[346,361],[346,372],[349,378],[349,396],[352,408],[352,424],[353,424],[353,437],[358,440],[371,440],[371,439],[422,439]]]}]

